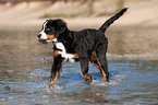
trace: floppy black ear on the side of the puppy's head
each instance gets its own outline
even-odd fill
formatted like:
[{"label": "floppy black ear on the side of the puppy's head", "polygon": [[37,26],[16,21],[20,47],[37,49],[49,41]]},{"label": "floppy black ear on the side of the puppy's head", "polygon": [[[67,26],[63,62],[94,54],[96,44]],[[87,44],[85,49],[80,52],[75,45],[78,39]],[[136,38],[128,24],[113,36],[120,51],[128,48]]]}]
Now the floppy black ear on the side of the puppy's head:
[{"label": "floppy black ear on the side of the puppy's head", "polygon": [[56,26],[54,26],[54,35],[58,37],[60,34],[64,33],[64,31],[68,28],[66,23],[62,21],[61,19],[54,20]]}]

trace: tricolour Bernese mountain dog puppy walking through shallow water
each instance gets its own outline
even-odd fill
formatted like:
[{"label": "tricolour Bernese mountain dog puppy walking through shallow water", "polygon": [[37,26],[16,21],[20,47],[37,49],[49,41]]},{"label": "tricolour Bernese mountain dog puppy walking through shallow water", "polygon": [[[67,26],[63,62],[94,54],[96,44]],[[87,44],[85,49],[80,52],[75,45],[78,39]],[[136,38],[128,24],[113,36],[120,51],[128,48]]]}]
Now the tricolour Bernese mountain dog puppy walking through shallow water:
[{"label": "tricolour Bernese mountain dog puppy walking through shallow water", "polygon": [[81,75],[86,82],[92,82],[93,78],[88,74],[89,61],[99,69],[104,82],[109,80],[107,49],[108,38],[105,36],[106,30],[121,15],[127,8],[108,19],[99,30],[85,28],[78,32],[70,31],[66,23],[61,19],[47,20],[42,24],[41,32],[37,39],[47,44],[53,44],[53,65],[51,68],[50,88],[53,86],[62,70],[63,61],[80,61]]}]

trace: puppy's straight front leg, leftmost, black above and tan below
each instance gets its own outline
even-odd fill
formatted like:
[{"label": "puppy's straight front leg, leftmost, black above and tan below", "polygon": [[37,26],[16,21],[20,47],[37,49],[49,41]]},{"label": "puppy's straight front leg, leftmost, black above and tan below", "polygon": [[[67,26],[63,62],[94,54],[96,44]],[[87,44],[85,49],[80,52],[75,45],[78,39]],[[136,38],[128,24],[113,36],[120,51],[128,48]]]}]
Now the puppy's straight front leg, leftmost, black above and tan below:
[{"label": "puppy's straight front leg, leftmost, black above and tan below", "polygon": [[52,68],[51,68],[51,80],[50,80],[50,85],[49,88],[53,86],[56,83],[57,83],[57,80],[60,75],[60,72],[62,70],[62,57],[61,55],[59,56],[54,56],[54,59],[53,59],[53,65],[52,65]]}]

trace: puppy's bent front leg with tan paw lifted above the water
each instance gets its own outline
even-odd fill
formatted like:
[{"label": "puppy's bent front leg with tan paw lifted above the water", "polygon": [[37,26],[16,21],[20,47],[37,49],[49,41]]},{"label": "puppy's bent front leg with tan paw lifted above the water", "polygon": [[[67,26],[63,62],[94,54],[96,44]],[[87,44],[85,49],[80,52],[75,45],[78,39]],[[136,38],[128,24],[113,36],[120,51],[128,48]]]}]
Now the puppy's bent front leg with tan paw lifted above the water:
[{"label": "puppy's bent front leg with tan paw lifted above the water", "polygon": [[80,60],[81,62],[81,75],[84,78],[86,82],[92,82],[93,78],[88,74],[88,63],[89,60],[87,58],[83,58]]}]

